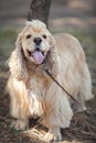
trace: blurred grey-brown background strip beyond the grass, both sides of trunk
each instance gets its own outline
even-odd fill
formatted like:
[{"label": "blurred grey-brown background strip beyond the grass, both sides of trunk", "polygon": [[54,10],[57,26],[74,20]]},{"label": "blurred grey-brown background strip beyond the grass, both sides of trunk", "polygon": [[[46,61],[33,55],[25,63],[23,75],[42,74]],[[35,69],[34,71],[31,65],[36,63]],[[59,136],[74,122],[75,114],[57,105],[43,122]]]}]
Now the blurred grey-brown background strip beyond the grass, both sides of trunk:
[{"label": "blurred grey-brown background strip beyond the grass, both sides of trunk", "polygon": [[[0,26],[25,24],[31,0],[0,0]],[[52,0],[50,29],[96,32],[96,0]]]}]

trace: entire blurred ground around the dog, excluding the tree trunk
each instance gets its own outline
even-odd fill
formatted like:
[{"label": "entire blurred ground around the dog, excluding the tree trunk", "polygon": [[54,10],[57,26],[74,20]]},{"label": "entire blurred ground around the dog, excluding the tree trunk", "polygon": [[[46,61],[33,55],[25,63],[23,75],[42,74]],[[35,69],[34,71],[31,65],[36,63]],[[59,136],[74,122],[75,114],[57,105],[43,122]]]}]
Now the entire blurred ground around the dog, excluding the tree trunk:
[{"label": "entire blurred ground around the dog, excluding the tree trunk", "polygon": [[[19,31],[24,25],[31,0],[29,2],[26,0],[10,1],[3,0],[0,4],[0,143],[43,143],[40,139],[45,134],[46,129],[36,125],[35,120],[30,122],[25,131],[17,132],[10,129],[12,121],[9,113],[10,100],[4,92],[9,77],[6,61],[14,48]],[[86,102],[87,111],[75,114],[71,127],[62,129],[61,143],[96,143],[96,9],[95,4],[92,4],[94,2],[95,0],[61,0],[60,2],[53,0],[51,7],[52,32],[68,32],[81,41],[95,95],[93,100]]]}]

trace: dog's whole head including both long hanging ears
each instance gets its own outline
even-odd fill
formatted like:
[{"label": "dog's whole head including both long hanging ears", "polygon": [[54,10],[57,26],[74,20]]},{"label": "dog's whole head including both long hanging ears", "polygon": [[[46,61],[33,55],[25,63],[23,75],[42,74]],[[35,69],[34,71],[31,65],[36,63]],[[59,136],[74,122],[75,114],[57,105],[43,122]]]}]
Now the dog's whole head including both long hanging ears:
[{"label": "dog's whole head including both long hanging ears", "polygon": [[39,20],[26,22],[26,26],[17,38],[15,50],[8,63],[11,74],[19,80],[26,80],[28,67],[25,62],[30,62],[30,65],[39,65],[39,67],[43,63],[45,67],[52,70],[56,63],[54,48],[54,37],[43,22]]}]

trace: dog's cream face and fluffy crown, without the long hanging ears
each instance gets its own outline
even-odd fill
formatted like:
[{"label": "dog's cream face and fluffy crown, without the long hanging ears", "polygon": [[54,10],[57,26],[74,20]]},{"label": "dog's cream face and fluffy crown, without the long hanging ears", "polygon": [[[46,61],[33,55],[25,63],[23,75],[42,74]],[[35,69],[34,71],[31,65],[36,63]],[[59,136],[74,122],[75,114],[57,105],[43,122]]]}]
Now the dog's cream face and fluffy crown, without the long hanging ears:
[{"label": "dog's cream face and fluffy crown, without the long hanging ears", "polygon": [[17,47],[21,48],[24,57],[34,64],[42,64],[53,46],[52,34],[39,20],[26,22],[26,26],[17,40]]}]

